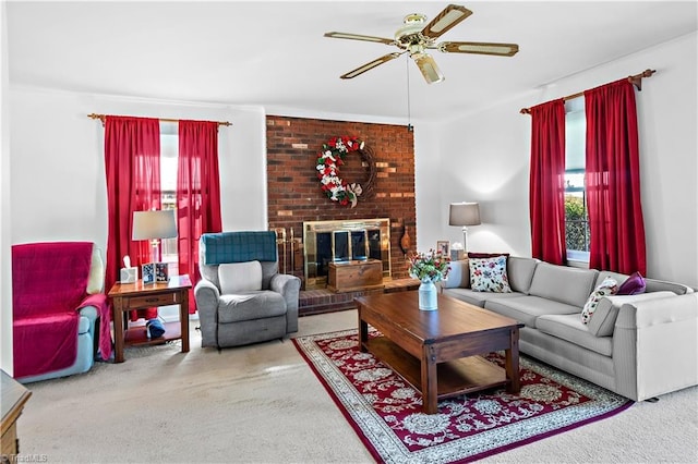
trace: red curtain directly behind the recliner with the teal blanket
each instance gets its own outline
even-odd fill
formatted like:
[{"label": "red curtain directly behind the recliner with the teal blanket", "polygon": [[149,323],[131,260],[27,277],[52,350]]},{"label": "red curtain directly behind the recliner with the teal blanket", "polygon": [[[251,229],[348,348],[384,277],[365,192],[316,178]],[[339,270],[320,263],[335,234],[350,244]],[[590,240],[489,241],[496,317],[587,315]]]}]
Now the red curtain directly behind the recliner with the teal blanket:
[{"label": "red curtain directly behind the recliner with the teal blanket", "polygon": [[[220,185],[218,174],[218,123],[179,122],[179,166],[177,169],[179,272],[198,282],[198,237],[220,232]],[[189,312],[196,312],[193,291]]]}]

